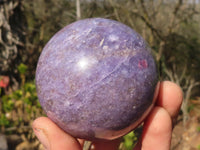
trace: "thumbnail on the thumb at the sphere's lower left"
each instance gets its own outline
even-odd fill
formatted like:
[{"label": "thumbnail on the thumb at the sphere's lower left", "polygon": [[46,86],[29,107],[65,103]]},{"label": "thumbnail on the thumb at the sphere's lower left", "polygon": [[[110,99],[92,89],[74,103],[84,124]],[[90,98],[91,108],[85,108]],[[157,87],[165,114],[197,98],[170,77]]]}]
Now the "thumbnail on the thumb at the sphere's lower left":
[{"label": "thumbnail on the thumb at the sphere's lower left", "polygon": [[33,131],[46,150],[50,150],[49,140],[43,129],[33,128]]}]

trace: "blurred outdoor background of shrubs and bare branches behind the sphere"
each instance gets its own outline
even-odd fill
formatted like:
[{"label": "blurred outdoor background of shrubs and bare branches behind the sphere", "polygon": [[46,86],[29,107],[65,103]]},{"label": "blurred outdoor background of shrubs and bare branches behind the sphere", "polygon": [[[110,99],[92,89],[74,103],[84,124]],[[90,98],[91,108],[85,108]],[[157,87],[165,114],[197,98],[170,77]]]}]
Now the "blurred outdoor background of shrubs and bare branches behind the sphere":
[{"label": "blurred outdoor background of shrubs and bare branches behind the sphere", "polygon": [[[200,150],[200,0],[0,0],[0,150],[42,149],[31,129],[44,115],[38,57],[58,30],[91,17],[120,21],[149,43],[160,80],[184,92],[171,150]],[[126,135],[119,149],[131,150],[139,135]]]}]

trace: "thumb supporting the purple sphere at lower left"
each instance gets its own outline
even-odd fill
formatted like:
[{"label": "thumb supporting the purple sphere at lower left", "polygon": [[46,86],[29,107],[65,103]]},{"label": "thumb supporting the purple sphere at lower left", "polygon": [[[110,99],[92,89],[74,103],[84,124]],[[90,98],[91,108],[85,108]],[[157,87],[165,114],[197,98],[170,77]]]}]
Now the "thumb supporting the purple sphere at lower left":
[{"label": "thumb supporting the purple sphere at lower left", "polygon": [[32,128],[47,150],[81,150],[79,142],[47,117],[36,119]]}]

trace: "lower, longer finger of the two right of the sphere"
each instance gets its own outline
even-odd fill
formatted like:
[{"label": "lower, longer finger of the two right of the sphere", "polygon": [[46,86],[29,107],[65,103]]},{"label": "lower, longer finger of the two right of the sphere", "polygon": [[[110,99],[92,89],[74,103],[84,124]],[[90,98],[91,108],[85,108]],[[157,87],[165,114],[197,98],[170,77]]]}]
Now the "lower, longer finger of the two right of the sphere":
[{"label": "lower, longer finger of the two right of the sphere", "polygon": [[169,150],[171,133],[169,113],[161,107],[155,107],[144,122],[142,139],[134,150]]}]

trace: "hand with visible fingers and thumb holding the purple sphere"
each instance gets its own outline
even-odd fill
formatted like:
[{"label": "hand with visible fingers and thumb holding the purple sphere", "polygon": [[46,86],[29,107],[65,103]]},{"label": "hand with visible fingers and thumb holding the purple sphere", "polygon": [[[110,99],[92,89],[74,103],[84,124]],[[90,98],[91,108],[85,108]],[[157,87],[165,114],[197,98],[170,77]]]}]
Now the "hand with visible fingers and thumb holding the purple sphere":
[{"label": "hand with visible fingers and thumb holding the purple sphere", "polygon": [[[164,81],[156,105],[144,121],[142,136],[133,150],[169,150],[173,124],[182,103],[182,90],[175,83]],[[76,139],[47,117],[37,118],[33,130],[47,150],[82,150],[84,140]],[[93,142],[93,150],[117,150],[121,139]]]}]

